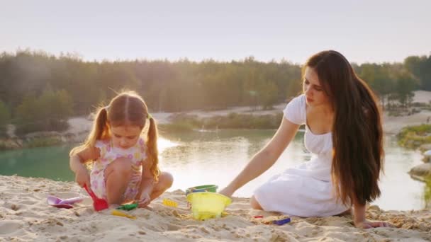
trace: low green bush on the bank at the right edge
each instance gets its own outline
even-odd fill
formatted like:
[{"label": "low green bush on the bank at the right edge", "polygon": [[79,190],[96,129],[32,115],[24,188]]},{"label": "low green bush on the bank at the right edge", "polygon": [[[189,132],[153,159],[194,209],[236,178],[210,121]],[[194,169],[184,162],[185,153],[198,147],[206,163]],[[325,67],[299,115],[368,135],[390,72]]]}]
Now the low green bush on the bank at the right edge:
[{"label": "low green bush on the bank at the right edge", "polygon": [[431,125],[405,127],[397,137],[400,146],[416,149],[422,144],[431,143]]}]

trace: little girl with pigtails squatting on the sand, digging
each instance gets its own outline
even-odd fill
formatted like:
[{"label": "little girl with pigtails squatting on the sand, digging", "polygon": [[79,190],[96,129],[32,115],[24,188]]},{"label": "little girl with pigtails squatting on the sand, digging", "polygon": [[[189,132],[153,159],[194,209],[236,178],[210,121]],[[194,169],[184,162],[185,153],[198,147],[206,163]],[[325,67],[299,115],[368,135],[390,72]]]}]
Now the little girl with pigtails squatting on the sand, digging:
[{"label": "little girl with pigtails squatting on the sand, digging", "polygon": [[[145,140],[141,134],[147,121]],[[92,162],[90,174],[87,162]],[[158,163],[156,122],[144,100],[132,91],[118,94],[100,108],[86,142],[70,151],[76,182],[109,204],[138,201],[139,207],[145,207],[162,195],[173,178],[161,173]]]}]

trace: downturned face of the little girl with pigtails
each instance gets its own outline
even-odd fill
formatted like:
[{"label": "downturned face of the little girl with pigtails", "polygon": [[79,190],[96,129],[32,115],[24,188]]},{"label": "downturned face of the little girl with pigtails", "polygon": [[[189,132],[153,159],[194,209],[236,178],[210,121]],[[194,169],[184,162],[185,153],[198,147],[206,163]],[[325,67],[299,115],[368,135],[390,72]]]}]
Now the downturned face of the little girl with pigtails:
[{"label": "downturned face of the little girl with pigtails", "polygon": [[111,136],[113,141],[113,146],[128,149],[135,146],[136,142],[140,137],[142,129],[139,126],[111,126]]}]

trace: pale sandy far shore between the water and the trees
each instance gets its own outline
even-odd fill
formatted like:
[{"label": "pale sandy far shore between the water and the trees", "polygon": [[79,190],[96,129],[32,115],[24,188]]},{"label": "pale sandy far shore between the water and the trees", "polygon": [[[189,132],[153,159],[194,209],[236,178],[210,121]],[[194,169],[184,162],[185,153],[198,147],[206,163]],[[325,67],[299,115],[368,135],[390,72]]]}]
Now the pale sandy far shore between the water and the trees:
[{"label": "pale sandy far shore between the water and the trees", "polygon": [[[413,103],[431,103],[431,91],[415,91]],[[262,110],[256,106],[245,106],[228,108],[225,110],[192,110],[187,112],[179,113],[151,113],[159,125],[169,125],[175,121],[172,121],[174,117],[178,115],[190,115],[197,117],[198,119],[208,119],[210,117],[224,116],[228,117],[231,113],[237,113],[241,115],[279,115],[283,112],[286,107],[286,103],[280,103],[274,105],[271,110]],[[420,108],[415,108],[416,110]],[[82,142],[91,130],[93,125],[93,117],[91,115],[71,117],[67,122],[69,128],[64,132],[34,132],[26,134],[23,137],[16,137],[13,131],[9,132],[9,137],[0,138],[0,149],[20,149],[23,147],[32,146],[50,146],[59,143],[74,143]],[[266,117],[268,120],[271,117]],[[275,117],[274,117],[275,118]],[[276,117],[281,118],[281,116]],[[245,117],[247,120],[248,117]],[[412,115],[392,116],[389,112],[384,110],[382,122],[385,134],[395,135],[398,134],[403,127],[415,126],[427,124],[431,121],[431,110],[421,109],[419,113],[413,113]],[[188,121],[186,121],[188,122]],[[176,124],[174,124],[175,126]],[[216,124],[215,124],[216,125]],[[12,126],[12,125],[11,125]],[[247,128],[247,125],[244,126]],[[263,125],[262,128],[266,127]],[[277,124],[273,123],[271,128],[276,128]],[[189,127],[188,127],[189,128]],[[201,127],[198,127],[201,128]],[[205,127],[203,127],[205,128]],[[268,127],[269,128],[269,127]],[[13,128],[12,128],[13,129]],[[30,144],[28,144],[30,142]]]}]

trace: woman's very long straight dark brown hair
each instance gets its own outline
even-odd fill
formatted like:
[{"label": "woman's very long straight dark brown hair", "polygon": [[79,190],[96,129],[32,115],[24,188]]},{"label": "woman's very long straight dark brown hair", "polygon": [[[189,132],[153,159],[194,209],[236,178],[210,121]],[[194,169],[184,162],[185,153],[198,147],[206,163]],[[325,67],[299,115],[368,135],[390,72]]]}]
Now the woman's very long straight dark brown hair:
[{"label": "woman's very long straight dark brown hair", "polygon": [[332,182],[344,204],[365,204],[380,195],[383,131],[376,96],[347,59],[328,50],[306,62],[318,74],[334,110]]}]

